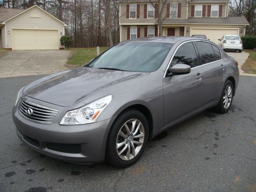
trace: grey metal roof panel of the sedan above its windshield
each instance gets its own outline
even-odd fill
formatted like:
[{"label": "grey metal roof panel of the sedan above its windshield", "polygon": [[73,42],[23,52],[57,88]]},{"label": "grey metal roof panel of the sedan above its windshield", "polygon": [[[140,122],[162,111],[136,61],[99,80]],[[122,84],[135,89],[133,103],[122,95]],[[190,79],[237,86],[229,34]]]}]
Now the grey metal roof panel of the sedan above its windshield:
[{"label": "grey metal roof panel of the sedan above its windshield", "polygon": [[136,41],[166,42],[166,43],[169,43],[169,44],[175,44],[176,42],[178,42],[180,40],[193,40],[193,39],[199,39],[199,38],[166,36],[166,37],[142,37],[142,38],[130,39],[130,40],[127,40],[127,41],[130,41],[130,42],[136,42]]}]

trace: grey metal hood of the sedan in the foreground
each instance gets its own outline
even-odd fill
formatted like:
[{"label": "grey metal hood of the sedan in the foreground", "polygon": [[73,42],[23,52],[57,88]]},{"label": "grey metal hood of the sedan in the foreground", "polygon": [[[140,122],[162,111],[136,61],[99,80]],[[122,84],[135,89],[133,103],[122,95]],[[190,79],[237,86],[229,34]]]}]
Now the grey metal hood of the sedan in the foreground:
[{"label": "grey metal hood of the sedan in the foreground", "polygon": [[96,91],[139,78],[143,74],[82,67],[34,81],[23,90],[23,94],[52,104],[71,106]]}]

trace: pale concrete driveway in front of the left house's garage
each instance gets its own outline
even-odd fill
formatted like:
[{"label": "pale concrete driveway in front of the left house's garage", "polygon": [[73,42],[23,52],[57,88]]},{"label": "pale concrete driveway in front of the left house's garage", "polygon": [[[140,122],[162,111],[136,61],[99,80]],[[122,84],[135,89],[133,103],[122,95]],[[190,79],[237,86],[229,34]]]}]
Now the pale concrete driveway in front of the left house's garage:
[{"label": "pale concrete driveway in front of the left house's garage", "polygon": [[63,71],[69,50],[8,51],[0,56],[0,78]]}]

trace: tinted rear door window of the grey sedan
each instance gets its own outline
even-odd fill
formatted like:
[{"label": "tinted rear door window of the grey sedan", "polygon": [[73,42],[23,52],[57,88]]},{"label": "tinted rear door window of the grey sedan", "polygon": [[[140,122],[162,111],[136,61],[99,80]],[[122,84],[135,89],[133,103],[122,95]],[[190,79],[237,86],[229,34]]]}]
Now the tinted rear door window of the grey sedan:
[{"label": "tinted rear door window of the grey sedan", "polygon": [[197,50],[200,54],[202,65],[208,62],[215,61],[214,50],[212,50],[211,45],[208,42],[195,42]]}]

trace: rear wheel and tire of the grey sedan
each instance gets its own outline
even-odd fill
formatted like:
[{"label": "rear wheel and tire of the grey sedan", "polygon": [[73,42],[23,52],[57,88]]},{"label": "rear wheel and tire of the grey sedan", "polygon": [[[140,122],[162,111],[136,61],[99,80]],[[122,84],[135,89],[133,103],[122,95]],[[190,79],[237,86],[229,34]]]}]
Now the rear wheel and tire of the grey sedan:
[{"label": "rear wheel and tire of the grey sedan", "polygon": [[[231,89],[230,93],[228,91],[229,89]],[[223,86],[220,101],[215,108],[218,113],[223,114],[228,112],[228,110],[232,105],[233,93],[234,93],[233,83],[230,80],[227,80]]]}]

